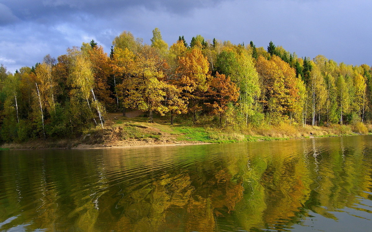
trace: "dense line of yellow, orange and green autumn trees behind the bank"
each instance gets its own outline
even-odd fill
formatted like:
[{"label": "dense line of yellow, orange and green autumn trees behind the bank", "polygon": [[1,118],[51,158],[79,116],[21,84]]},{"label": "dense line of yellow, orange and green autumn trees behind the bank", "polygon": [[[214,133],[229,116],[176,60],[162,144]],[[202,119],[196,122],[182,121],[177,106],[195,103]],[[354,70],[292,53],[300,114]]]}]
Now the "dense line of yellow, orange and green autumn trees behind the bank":
[{"label": "dense line of yellow, orange and green autumn trees behind the bank", "polygon": [[[76,137],[102,127],[107,112],[138,109],[194,122],[257,127],[369,122],[372,70],[322,55],[299,58],[269,43],[179,36],[171,46],[153,30],[151,45],[122,32],[108,55],[94,40],[10,73],[0,66],[3,141]],[[179,116],[180,117],[180,116]]]}]

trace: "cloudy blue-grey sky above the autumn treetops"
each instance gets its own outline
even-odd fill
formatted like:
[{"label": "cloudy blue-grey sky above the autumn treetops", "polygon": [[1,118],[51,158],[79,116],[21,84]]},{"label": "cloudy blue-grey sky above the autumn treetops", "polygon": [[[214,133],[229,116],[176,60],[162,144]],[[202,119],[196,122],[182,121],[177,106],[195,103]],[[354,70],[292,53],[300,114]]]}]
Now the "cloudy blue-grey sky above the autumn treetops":
[{"label": "cloudy blue-grey sky above the autumn treetops", "polygon": [[94,39],[109,53],[123,31],[150,44],[270,41],[299,57],[372,65],[371,0],[0,0],[0,63],[11,72]]}]

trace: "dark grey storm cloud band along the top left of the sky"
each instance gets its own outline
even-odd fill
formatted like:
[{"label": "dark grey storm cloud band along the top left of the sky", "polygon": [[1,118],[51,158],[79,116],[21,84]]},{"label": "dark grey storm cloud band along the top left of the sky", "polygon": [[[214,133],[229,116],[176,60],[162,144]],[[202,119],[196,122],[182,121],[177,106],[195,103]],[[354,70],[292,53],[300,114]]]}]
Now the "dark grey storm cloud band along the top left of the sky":
[{"label": "dark grey storm cloud band along the top left of the sky", "polygon": [[[92,14],[107,16],[115,12],[144,7],[151,11],[185,14],[189,10],[215,6],[221,0],[3,0],[3,5],[12,9],[21,20],[37,20],[40,23],[53,23],[54,19],[69,17],[71,14]],[[0,7],[1,9],[1,7]],[[49,19],[49,20],[48,20]],[[52,20],[51,20],[52,19]]]}]

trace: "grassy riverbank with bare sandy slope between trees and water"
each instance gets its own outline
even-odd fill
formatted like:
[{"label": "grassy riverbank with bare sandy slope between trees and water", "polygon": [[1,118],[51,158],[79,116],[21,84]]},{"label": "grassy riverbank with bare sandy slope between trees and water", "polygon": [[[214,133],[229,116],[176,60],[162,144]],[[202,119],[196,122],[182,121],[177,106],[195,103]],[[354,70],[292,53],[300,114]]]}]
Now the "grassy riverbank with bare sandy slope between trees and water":
[{"label": "grassy riverbank with bare sandy slope between trees and water", "polygon": [[301,125],[263,125],[257,128],[215,128],[179,122],[174,125],[158,118],[125,118],[112,114],[105,128],[95,128],[80,138],[31,140],[25,143],[2,144],[2,149],[87,149],[105,147],[177,146],[200,143],[238,143],[294,138],[346,136],[368,134],[371,125],[330,125],[329,127]]}]

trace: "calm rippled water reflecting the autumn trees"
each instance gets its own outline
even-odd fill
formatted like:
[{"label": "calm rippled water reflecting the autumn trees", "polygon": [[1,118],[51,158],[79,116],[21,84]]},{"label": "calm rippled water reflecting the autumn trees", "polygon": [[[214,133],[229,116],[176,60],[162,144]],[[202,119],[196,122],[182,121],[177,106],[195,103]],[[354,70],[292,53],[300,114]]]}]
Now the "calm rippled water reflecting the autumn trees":
[{"label": "calm rippled water reflecting the autumn trees", "polygon": [[372,231],[372,136],[0,151],[0,231]]}]

